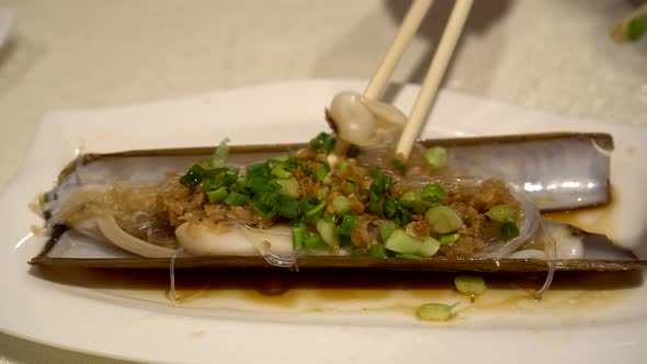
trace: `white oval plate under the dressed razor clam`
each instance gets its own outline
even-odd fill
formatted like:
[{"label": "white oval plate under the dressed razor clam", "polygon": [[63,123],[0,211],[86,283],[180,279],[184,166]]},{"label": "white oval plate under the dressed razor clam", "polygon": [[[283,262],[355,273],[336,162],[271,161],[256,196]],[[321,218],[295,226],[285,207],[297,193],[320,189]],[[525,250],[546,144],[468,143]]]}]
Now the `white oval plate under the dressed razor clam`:
[{"label": "white oval plate under the dressed razor clam", "polygon": [[[39,224],[27,203],[52,187],[78,149],[125,149],[305,141],[326,130],[324,107],[364,81],[293,81],[220,91],[147,105],[57,112],[41,124],[19,174],[0,196],[0,330],[64,349],[147,362],[213,363],[628,363],[647,354],[647,289],[577,319],[542,315],[477,315],[424,325],[388,312],[245,314],[175,307],[38,277],[27,260],[45,241],[27,235]],[[395,100],[409,110],[418,88]],[[613,134],[616,194],[614,238],[645,257],[647,129],[575,121],[443,91],[424,136],[550,130]],[[631,203],[634,202],[634,203]],[[627,221],[628,220],[628,221]],[[621,224],[621,225],[618,225]],[[26,235],[26,237],[25,237]],[[541,307],[541,306],[540,306]]]}]

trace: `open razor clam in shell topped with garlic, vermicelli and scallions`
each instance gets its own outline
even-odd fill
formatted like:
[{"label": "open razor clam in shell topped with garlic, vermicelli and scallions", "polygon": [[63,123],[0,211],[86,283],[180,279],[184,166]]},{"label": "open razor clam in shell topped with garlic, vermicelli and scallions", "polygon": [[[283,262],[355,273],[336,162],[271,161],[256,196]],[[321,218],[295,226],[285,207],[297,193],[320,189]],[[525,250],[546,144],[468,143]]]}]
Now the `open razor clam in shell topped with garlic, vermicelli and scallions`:
[{"label": "open razor clam in shell topped with garlic, vermicelli and scallions", "polygon": [[[450,167],[431,172],[424,167],[421,152],[431,146],[446,150]],[[613,149],[610,136],[548,134],[443,139],[421,141],[417,148],[405,166],[406,175],[398,174],[400,169],[394,168],[385,157],[389,150],[371,144],[355,158],[319,177],[318,169],[311,168],[314,164],[298,168],[294,164],[292,170],[285,167],[292,160],[286,156],[307,157],[314,152],[306,145],[230,147],[227,157],[230,167],[208,170],[239,181],[236,183],[247,181],[249,187],[253,185],[251,174],[259,173],[261,167],[268,168],[265,178],[270,180],[266,181],[276,182],[284,193],[281,196],[285,196],[277,200],[279,208],[284,209],[281,216],[291,216],[292,207],[299,214],[292,223],[285,217],[276,218],[279,215],[274,218],[261,215],[265,213],[263,205],[256,203],[266,196],[246,195],[235,184],[208,189],[204,180],[195,184],[195,190],[180,185],[180,177],[184,183],[192,183],[186,179],[195,177],[191,174],[195,167],[189,173],[186,169],[196,161],[209,159],[213,153],[209,148],[84,155],[61,172],[57,186],[46,194],[42,207],[52,239],[31,263],[166,268],[169,259],[175,257],[179,268],[277,265],[511,272],[545,271],[546,260],[554,261],[558,270],[626,270],[644,263],[603,236],[547,223],[538,215],[538,211],[584,208],[609,202],[609,155]],[[316,161],[319,157],[307,158]],[[343,177],[347,180],[339,180],[340,171],[349,166],[364,170],[365,180],[351,183],[357,177],[348,173]],[[318,190],[307,191],[311,186],[303,178],[298,183],[291,182],[307,168],[315,177],[306,182],[314,183]],[[428,170],[423,171],[424,168]],[[368,170],[379,174],[370,177]],[[373,208],[373,202],[363,193],[373,194],[375,181],[381,179],[393,184],[387,187],[391,191],[386,198],[394,201],[395,215],[389,215],[390,205],[384,197],[379,197],[379,203],[384,203],[386,211],[376,213],[384,214],[383,217],[361,213]],[[507,182],[496,182],[501,179]],[[347,191],[349,187],[357,190]],[[257,189],[263,189],[262,183]],[[416,202],[410,197],[416,194],[424,197],[429,191],[432,196],[442,192],[440,201],[445,202],[415,206],[429,200]],[[469,200],[470,193],[474,198],[479,193],[483,198],[502,198],[509,206],[490,206],[485,215],[473,214],[469,208],[479,208],[480,203]],[[502,195],[488,197],[488,193]],[[284,201],[296,201],[298,206],[290,207]],[[510,213],[510,206],[517,206],[514,213]],[[269,208],[275,214],[275,206]],[[398,212],[413,215],[398,215]],[[343,229],[348,228],[344,224],[352,220],[349,218],[352,214],[359,214],[360,219],[351,221],[355,224],[353,234],[350,230],[344,234]],[[385,220],[385,216],[393,217]],[[481,230],[474,230],[477,225]],[[506,230],[508,225],[518,231]],[[387,230],[393,228],[401,232],[389,238]],[[303,240],[297,241],[299,234]],[[506,238],[507,234],[512,235]],[[477,236],[483,240],[481,246],[477,244],[472,252],[464,252],[459,247],[453,249]],[[92,252],[93,247],[101,244],[128,253],[106,253],[102,248]]]}]

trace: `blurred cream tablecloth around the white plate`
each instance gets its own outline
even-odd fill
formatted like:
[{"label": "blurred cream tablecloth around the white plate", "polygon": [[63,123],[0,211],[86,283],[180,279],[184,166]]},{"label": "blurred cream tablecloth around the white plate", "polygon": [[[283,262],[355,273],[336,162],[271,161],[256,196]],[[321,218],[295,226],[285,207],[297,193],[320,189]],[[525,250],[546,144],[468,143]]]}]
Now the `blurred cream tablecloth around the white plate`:
[{"label": "blurred cream tablecloth around the white plate", "polygon": [[[444,87],[586,120],[647,124],[647,38],[610,37],[640,2],[476,0]],[[0,186],[53,110],[294,79],[367,79],[409,3],[0,0],[18,15],[0,48]],[[422,80],[451,7],[434,2],[395,81]],[[0,363],[86,362],[112,363],[0,334]]]}]

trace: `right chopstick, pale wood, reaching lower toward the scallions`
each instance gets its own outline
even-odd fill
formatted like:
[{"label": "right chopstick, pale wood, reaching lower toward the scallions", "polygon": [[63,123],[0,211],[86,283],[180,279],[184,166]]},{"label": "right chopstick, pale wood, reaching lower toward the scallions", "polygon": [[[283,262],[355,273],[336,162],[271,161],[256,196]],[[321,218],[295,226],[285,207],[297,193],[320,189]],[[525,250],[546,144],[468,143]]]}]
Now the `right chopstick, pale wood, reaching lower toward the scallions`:
[{"label": "right chopstick, pale wood, reaching lower toward the scallions", "polygon": [[456,48],[458,37],[463,32],[463,27],[465,25],[465,21],[467,20],[467,15],[469,14],[469,10],[472,9],[473,2],[473,0],[456,0],[456,3],[452,9],[452,14],[450,15],[447,25],[445,26],[433,60],[429,66],[429,70],[424,77],[424,81],[422,82],[422,87],[418,93],[418,98],[416,99],[416,103],[413,104],[411,113],[409,114],[409,121],[407,122],[405,130],[402,132],[402,135],[400,136],[396,147],[396,156],[402,161],[409,159],[409,155],[413,148],[413,143],[416,141],[416,138],[420,134],[424,121],[427,120],[429,109],[435,99],[440,82],[447,69],[452,54]]}]

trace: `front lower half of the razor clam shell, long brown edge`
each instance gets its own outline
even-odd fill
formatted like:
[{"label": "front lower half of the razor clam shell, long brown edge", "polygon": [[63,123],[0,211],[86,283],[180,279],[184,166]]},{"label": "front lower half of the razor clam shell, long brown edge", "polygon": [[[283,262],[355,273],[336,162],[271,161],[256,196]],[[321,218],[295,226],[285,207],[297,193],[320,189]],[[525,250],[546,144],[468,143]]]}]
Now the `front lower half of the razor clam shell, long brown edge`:
[{"label": "front lower half of the razor clam shell, long brown edge", "polygon": [[[572,235],[582,238],[584,257],[582,259],[554,260],[556,271],[613,272],[647,268],[647,261],[638,260],[631,251],[615,247],[603,235],[589,234],[571,226],[569,228]],[[70,253],[70,250],[75,249],[76,252]],[[102,251],[92,251],[93,249]],[[83,255],[88,252],[90,252],[88,255]],[[70,255],[73,254],[78,255],[71,258]],[[109,255],[111,258],[97,258]],[[169,269],[170,259],[136,257],[86,237],[79,238],[73,230],[58,226],[43,252],[29,263],[58,268]],[[262,257],[181,257],[175,260],[175,268],[285,269],[271,265]],[[548,264],[546,261],[531,259],[427,258],[405,260],[348,255],[304,255],[298,257],[296,264],[288,269],[525,273],[545,272],[548,270]]]}]

